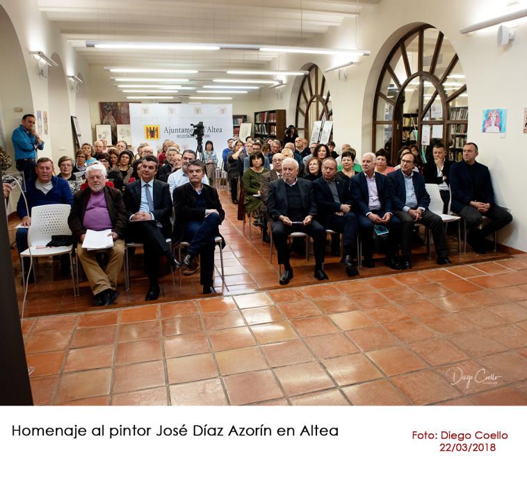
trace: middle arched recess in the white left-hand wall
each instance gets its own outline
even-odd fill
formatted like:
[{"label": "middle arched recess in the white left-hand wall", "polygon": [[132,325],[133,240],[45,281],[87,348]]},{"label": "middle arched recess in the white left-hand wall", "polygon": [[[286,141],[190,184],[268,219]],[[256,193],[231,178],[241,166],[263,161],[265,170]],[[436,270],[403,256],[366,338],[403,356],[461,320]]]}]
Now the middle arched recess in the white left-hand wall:
[{"label": "middle arched recess in the white left-hand wall", "polygon": [[[47,83],[51,158],[56,163],[61,156],[73,156],[74,145],[66,74],[60,56],[56,52],[51,55],[51,59],[58,63],[58,67],[49,69]],[[52,131],[51,127],[53,127]]]}]

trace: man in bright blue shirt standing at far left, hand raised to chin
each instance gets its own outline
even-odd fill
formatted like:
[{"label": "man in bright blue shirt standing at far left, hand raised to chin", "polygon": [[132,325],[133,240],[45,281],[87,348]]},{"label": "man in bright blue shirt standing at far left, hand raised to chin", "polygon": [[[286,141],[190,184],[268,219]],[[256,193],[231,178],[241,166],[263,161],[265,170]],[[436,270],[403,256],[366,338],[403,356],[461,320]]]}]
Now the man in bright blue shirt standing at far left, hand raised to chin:
[{"label": "man in bright blue shirt standing at far left, hand raised to chin", "polygon": [[24,173],[26,183],[35,177],[35,161],[37,159],[37,149],[44,149],[44,142],[35,130],[35,115],[26,113],[22,117],[22,124],[11,136],[13,147],[15,148],[15,161],[17,169]]}]

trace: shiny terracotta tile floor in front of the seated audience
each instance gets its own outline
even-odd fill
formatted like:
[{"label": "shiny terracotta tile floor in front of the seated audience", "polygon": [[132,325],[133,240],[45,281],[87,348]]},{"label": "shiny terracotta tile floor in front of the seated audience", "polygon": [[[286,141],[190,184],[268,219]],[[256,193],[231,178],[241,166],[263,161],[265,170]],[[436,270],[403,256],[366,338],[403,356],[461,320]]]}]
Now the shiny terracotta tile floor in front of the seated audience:
[{"label": "shiny terracotta tile floor in front of the seated audience", "polygon": [[527,405],[527,255],[453,254],[439,269],[418,250],[412,271],[358,279],[328,257],[324,283],[295,257],[279,287],[276,257],[226,206],[220,296],[168,275],[145,304],[138,255],[131,295],[96,310],[86,282],[73,298],[42,262],[22,324],[35,404]]}]

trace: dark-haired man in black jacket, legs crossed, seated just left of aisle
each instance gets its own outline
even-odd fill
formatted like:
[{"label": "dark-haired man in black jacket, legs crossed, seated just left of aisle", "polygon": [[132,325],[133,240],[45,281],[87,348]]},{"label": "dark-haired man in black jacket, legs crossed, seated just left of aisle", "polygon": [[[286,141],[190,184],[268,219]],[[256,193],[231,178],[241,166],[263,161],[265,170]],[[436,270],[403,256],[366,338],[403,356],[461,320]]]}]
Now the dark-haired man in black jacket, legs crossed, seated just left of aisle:
[{"label": "dark-haired man in black jacket, legs crossed, seated just left of aisle", "polygon": [[[205,168],[201,161],[192,161],[187,165],[189,182],[174,190],[172,198],[175,208],[174,244],[187,241],[186,257],[183,261],[189,267],[193,258],[200,255],[200,283],[203,294],[213,294],[214,243],[215,237],[221,237],[218,227],[225,219],[225,211],[220,203],[218,191],[202,183]],[[225,246],[225,241],[222,241]]]}]

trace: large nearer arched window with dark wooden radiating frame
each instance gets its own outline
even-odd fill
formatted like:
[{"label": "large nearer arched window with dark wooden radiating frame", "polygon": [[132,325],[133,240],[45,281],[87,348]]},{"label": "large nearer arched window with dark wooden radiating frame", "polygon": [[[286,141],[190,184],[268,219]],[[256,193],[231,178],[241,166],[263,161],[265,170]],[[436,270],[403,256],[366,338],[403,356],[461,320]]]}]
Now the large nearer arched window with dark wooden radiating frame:
[{"label": "large nearer arched window with dark wooden radiating frame", "polygon": [[423,25],[391,50],[373,103],[372,149],[385,147],[394,161],[400,147],[416,143],[427,157],[442,141],[449,157],[461,159],[467,141],[467,85],[451,43]]}]

